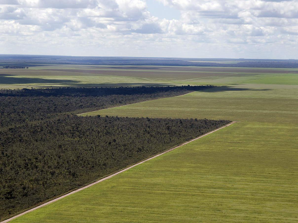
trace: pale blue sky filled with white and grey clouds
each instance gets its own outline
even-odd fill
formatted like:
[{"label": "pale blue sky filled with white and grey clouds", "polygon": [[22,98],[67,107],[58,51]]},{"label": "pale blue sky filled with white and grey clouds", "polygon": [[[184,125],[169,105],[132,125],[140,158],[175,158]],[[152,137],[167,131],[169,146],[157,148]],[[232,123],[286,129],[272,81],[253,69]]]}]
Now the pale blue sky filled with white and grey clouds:
[{"label": "pale blue sky filled with white and grey clouds", "polygon": [[298,59],[298,0],[0,0],[0,54]]}]

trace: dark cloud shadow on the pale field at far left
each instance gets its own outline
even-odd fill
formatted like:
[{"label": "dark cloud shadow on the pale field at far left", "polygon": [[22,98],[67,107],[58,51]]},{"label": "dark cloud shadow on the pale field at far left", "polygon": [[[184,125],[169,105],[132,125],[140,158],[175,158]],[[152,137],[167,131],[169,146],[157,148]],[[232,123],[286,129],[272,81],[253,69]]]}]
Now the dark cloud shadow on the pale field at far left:
[{"label": "dark cloud shadow on the pale field at far left", "polygon": [[62,80],[62,79],[44,79],[44,78],[24,78],[15,77],[12,74],[0,74],[0,84],[67,84],[78,83],[80,81]]}]

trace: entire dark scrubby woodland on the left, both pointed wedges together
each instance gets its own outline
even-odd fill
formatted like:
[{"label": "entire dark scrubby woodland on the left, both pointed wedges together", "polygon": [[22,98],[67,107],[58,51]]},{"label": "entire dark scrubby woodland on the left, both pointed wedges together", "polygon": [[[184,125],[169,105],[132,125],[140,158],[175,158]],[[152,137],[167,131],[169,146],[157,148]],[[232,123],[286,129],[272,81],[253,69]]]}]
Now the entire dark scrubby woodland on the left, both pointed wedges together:
[{"label": "entire dark scrubby woodland on the left, both pointed wedges together", "polygon": [[230,122],[78,112],[210,87],[0,90],[0,220]]}]

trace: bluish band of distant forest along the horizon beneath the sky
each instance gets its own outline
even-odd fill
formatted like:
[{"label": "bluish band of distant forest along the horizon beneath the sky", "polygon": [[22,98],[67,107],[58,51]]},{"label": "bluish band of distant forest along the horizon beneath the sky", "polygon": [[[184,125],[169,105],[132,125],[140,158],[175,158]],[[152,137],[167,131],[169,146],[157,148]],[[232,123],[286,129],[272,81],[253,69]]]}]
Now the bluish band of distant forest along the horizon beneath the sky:
[{"label": "bluish band of distant forest along the horizon beneath the sky", "polygon": [[[191,60],[200,62],[190,62]],[[210,61],[210,62],[209,62]],[[211,62],[212,61],[212,62]],[[223,64],[214,61],[236,61]],[[157,58],[157,57],[104,57],[104,56],[50,56],[50,55],[0,55],[1,63],[32,67],[43,64],[92,64],[92,65],[157,65],[198,67],[262,67],[298,68],[297,59],[222,59],[222,58]],[[13,64],[12,64],[13,63]]]}]

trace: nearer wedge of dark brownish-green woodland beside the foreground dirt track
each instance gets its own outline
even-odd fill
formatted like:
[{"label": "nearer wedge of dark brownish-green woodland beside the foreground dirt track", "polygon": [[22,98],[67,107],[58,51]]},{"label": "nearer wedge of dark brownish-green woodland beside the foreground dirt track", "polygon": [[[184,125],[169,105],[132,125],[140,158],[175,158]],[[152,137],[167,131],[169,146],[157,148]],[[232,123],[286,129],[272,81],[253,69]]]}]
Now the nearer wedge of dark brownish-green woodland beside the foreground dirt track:
[{"label": "nearer wedge of dark brownish-green woodland beside the foreground dirt track", "polygon": [[0,131],[0,218],[229,123],[64,115]]}]

